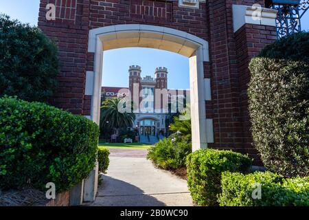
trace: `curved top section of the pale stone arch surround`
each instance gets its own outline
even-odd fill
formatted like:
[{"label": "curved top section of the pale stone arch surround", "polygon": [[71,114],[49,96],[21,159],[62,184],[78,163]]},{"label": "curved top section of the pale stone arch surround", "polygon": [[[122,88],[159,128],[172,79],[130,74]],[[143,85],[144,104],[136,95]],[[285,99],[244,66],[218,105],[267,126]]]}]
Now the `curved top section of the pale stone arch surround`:
[{"label": "curved top section of the pale stone arch surround", "polygon": [[[203,50],[203,61],[209,61],[209,45],[207,41],[193,34],[173,28],[139,24],[110,25],[96,28],[89,32],[88,52],[95,52],[97,38],[100,38],[102,41],[111,42],[104,50],[130,46],[158,47],[157,49],[168,50],[191,57],[194,56],[194,51],[201,47]],[[145,42],[145,39],[152,39],[152,45]],[[153,41],[154,39],[157,40],[157,43]],[[117,45],[117,41],[125,41],[126,46]],[[193,52],[190,53],[191,51]]]}]

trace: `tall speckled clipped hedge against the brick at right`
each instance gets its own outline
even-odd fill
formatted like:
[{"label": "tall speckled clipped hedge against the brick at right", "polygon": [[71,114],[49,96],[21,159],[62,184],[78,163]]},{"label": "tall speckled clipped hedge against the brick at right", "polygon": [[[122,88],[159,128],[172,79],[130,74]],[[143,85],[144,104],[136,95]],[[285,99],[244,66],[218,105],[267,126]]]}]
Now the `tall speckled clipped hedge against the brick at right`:
[{"label": "tall speckled clipped hedge against the brick at right", "polygon": [[249,110],[253,140],[268,170],[307,176],[309,63],[254,58]]}]

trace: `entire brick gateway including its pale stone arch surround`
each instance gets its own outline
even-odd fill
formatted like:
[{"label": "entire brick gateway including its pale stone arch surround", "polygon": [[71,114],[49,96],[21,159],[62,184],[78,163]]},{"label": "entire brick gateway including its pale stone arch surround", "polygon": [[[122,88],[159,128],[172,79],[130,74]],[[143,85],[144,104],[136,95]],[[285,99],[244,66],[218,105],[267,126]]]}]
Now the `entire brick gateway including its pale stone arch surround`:
[{"label": "entire brick gateway including its pale stone arch surround", "polygon": [[[46,18],[49,3],[56,6],[54,20]],[[103,50],[135,45],[178,52],[190,58],[194,148],[233,149],[259,162],[251,144],[248,65],[277,39],[277,11],[257,14],[253,3],[263,7],[264,0],[41,0],[38,27],[59,47],[59,86],[51,103],[98,122]],[[97,174],[77,186],[76,200],[93,201]]]}]

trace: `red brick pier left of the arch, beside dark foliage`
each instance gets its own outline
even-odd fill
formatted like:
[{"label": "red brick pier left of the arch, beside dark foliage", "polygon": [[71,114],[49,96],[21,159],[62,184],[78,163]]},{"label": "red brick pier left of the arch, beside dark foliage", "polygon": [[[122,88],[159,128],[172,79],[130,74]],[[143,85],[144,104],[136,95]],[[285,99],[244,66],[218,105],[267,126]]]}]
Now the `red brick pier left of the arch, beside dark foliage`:
[{"label": "red brick pier left of the arch, beside dark foliage", "polygon": [[[56,20],[45,18],[49,3],[56,5]],[[51,104],[71,113],[88,114],[89,97],[85,97],[90,1],[41,0],[38,27],[59,48],[60,74]],[[91,65],[91,64],[90,64]]]}]

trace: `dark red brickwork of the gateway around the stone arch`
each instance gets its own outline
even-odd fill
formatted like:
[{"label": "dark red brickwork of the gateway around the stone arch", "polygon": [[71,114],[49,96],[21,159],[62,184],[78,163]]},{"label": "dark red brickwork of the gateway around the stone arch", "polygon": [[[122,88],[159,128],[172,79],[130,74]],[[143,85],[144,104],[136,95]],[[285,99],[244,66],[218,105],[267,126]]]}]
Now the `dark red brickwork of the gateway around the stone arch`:
[{"label": "dark red brickwork of the gateway around the stone arch", "polygon": [[207,0],[199,8],[179,7],[178,0],[57,0],[58,19],[46,21],[45,7],[52,2],[56,0],[41,0],[38,18],[38,26],[55,39],[60,51],[59,87],[52,104],[90,114],[91,97],[84,95],[86,71],[93,71],[94,60],[94,54],[87,52],[89,30],[136,23],[174,28],[209,42],[210,62],[204,63],[204,76],[211,78],[212,100],[205,104],[206,117],[214,119],[215,141],[209,145],[233,148],[258,159],[249,131],[248,63],[275,40],[275,30],[244,25],[234,33],[232,4],[263,6],[263,0]]}]

